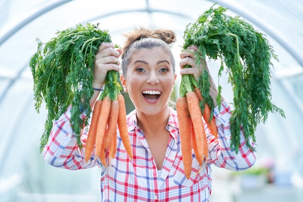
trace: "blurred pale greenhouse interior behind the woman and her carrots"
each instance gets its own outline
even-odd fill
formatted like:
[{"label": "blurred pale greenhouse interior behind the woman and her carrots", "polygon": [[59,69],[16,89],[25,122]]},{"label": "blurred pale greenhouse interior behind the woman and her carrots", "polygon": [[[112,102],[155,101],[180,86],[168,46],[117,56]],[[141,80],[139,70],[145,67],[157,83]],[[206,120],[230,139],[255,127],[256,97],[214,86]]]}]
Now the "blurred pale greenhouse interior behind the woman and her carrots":
[{"label": "blurred pale greenhouse interior behind the woman and her carrots", "polygon": [[[29,60],[36,38],[47,42],[57,30],[87,22],[100,23],[118,44],[121,34],[135,27],[173,29],[178,64],[186,25],[215,2],[269,39],[279,58],[273,61],[272,101],[286,118],[270,114],[259,124],[251,169],[235,173],[212,167],[210,201],[303,201],[303,0],[0,0],[0,202],[100,201],[98,168],[58,169],[39,153],[47,112],[34,109]],[[208,64],[216,78],[220,64]],[[232,102],[226,75],[220,85]]]}]

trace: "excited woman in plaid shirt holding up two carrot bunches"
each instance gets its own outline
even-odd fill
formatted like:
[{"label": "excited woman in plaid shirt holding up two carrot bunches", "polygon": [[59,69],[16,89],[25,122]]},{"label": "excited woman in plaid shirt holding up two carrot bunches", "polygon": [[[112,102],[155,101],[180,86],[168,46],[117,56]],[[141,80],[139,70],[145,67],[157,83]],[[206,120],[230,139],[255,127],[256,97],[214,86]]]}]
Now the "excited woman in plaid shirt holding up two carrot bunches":
[{"label": "excited woman in plaid shirt holding up two carrot bunches", "polygon": [[[210,95],[216,106],[213,114],[218,138],[215,139],[204,124],[209,144],[208,159],[204,162],[206,166],[201,168],[193,155],[192,173],[186,179],[177,114],[168,107],[177,76],[169,46],[173,42],[175,34],[171,30],[135,29],[126,35],[123,51],[114,49],[110,43],[102,43],[96,54],[92,83],[96,90],[91,98],[92,106],[100,93],[98,89],[104,85],[106,72],[120,71],[118,58],[121,56],[121,84],[136,108],[127,116],[133,160],[126,154],[117,130],[117,153],[114,159],[110,159],[110,164],[107,156],[107,167],[103,166],[94,153],[86,162],[84,148],[79,149],[70,127],[70,108],[54,123],[49,142],[45,145],[46,161],[71,170],[99,166],[102,170],[102,201],[209,201],[212,164],[239,171],[251,167],[256,160],[254,152],[244,144],[242,133],[239,153],[230,149],[230,107],[224,98],[221,98],[221,103],[216,103],[218,91],[211,82]],[[195,65],[196,51],[197,46],[182,51],[180,72],[193,74],[198,79],[202,64],[199,67]],[[186,64],[192,68],[182,69]],[[84,132],[81,138],[85,147],[87,133]]]}]

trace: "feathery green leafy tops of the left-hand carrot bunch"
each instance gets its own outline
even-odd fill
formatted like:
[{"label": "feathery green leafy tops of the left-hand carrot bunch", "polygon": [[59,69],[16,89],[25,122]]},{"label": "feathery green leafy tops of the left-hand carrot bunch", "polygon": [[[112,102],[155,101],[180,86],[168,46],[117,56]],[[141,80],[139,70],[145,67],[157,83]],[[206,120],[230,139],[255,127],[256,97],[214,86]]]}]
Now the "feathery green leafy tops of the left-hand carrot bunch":
[{"label": "feathery green leafy tops of the left-hand carrot bunch", "polygon": [[[80,133],[91,114],[95,53],[102,42],[111,42],[108,31],[98,26],[79,24],[76,28],[58,31],[47,43],[37,39],[37,52],[30,58],[35,109],[39,113],[45,102],[48,110],[40,152],[47,143],[53,120],[71,104],[71,126],[78,145],[82,146]],[[86,114],[85,118],[81,117],[82,113]]]}]

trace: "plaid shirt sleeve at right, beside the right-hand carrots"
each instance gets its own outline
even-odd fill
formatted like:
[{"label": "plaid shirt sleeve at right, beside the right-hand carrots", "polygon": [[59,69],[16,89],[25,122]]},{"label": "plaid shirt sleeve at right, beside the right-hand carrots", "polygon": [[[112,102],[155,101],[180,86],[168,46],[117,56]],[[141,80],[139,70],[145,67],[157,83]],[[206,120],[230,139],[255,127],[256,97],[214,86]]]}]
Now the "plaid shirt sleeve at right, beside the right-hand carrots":
[{"label": "plaid shirt sleeve at right, beside the right-hand carrots", "polygon": [[214,138],[206,124],[206,135],[209,144],[208,162],[217,167],[226,168],[228,170],[240,171],[245,170],[256,161],[255,152],[246,145],[246,141],[254,147],[251,139],[245,140],[243,130],[240,130],[240,147],[238,152],[230,148],[231,132],[230,117],[231,109],[226,101],[223,101],[219,107],[214,108],[213,112],[215,122],[218,129],[218,137]]}]

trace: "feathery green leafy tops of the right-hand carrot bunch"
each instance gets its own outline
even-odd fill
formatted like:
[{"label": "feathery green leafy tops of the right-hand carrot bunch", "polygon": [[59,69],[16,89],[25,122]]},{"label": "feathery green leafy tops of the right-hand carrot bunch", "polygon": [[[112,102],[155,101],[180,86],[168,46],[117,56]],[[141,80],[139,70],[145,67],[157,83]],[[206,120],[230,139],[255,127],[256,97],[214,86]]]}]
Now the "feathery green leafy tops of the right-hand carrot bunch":
[{"label": "feathery green leafy tops of the right-hand carrot bunch", "polygon": [[[240,127],[246,139],[251,137],[256,142],[256,127],[259,122],[266,121],[269,112],[278,112],[285,117],[283,110],[271,102],[271,59],[277,57],[262,33],[239,16],[225,14],[226,8],[214,8],[214,5],[200,15],[196,22],[187,25],[183,48],[192,44],[198,46],[195,55],[197,64],[200,58],[219,59],[221,68],[218,77],[222,75],[224,66],[227,67],[228,83],[234,93],[234,110],[230,118],[231,147],[238,151]],[[213,109],[209,81],[205,74],[200,77],[198,87]],[[219,98],[221,86],[218,89]],[[249,141],[246,144],[252,148]]]}]

